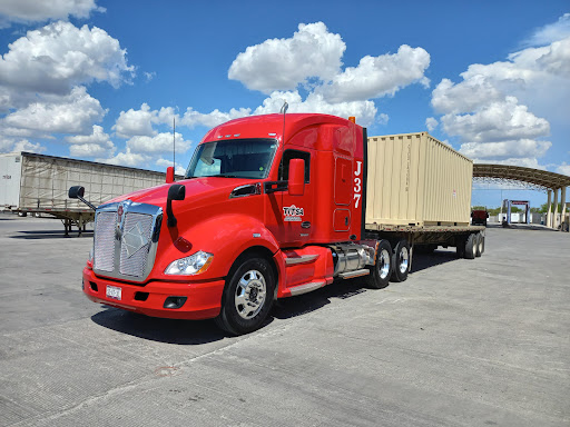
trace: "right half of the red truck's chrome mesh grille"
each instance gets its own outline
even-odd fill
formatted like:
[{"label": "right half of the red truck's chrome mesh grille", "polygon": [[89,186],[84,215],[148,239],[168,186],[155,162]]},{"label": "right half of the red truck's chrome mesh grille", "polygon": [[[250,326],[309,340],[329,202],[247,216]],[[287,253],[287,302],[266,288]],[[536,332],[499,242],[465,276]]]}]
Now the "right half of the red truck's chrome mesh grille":
[{"label": "right half of the red truck's chrome mesh grille", "polygon": [[121,275],[142,276],[147,266],[151,231],[153,216],[127,214],[120,245]]}]

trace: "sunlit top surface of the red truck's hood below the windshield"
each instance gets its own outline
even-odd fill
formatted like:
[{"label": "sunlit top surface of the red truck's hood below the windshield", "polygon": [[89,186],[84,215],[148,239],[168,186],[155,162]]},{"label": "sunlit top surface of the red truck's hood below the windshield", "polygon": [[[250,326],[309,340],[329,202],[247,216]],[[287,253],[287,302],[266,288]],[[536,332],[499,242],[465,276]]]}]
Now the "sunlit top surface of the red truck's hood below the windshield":
[{"label": "sunlit top surface of the red truck's hood below the windshield", "polygon": [[[202,205],[209,205],[222,200],[227,200],[234,188],[254,182],[258,182],[258,180],[243,178],[204,177],[186,179],[174,183],[179,183],[186,187],[185,202],[191,205],[193,208],[196,208]],[[128,199],[139,203],[159,206],[165,209],[166,199],[168,197],[168,188],[170,188],[170,186],[171,183],[165,183],[161,186],[129,192],[127,195],[116,197],[108,202],[119,202]],[[175,205],[178,203],[183,202],[175,201]]]}]

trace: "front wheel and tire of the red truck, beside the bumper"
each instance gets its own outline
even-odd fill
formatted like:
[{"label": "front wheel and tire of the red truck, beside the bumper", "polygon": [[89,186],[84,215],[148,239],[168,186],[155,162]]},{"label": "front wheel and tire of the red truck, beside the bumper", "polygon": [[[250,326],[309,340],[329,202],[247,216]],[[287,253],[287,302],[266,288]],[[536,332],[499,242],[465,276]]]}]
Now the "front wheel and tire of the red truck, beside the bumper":
[{"label": "front wheel and tire of the red truck, beside the bumper", "polygon": [[232,335],[258,329],[273,306],[275,278],[265,258],[249,258],[228,276],[216,324]]}]

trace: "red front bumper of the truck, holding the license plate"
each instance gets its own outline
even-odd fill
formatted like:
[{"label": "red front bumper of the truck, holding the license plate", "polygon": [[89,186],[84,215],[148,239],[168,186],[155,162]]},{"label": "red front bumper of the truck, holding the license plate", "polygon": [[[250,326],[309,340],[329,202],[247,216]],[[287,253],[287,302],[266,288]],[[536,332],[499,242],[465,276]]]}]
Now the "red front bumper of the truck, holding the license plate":
[{"label": "red front bumper of the truck, holding the license plate", "polygon": [[[107,286],[121,289],[120,300],[107,297]],[[223,279],[207,282],[149,281],[145,286],[97,277],[83,269],[83,292],[94,302],[122,308],[153,317],[170,319],[208,319],[219,315]],[[180,308],[164,308],[168,297],[186,297]]]}]

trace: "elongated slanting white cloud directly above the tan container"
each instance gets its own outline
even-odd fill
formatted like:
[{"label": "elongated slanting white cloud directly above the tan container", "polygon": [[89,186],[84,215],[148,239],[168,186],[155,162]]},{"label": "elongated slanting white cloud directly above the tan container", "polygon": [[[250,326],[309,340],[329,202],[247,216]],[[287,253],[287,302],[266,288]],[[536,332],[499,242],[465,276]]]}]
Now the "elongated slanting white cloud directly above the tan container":
[{"label": "elongated slanting white cloud directly above the tan container", "polygon": [[346,68],[317,91],[322,91],[330,102],[394,96],[414,82],[428,87],[424,72],[429,66],[430,54],[424,49],[402,44],[396,53],[362,58],[357,67]]}]

